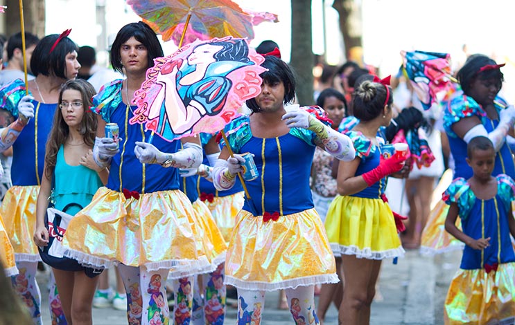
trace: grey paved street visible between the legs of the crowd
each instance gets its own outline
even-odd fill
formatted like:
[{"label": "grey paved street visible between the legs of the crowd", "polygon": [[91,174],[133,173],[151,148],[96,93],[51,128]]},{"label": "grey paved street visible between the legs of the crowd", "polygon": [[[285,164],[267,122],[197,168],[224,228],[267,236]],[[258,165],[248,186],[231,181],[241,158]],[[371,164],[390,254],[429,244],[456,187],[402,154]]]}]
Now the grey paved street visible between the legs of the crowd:
[{"label": "grey paved street visible between the legs of the crowd", "polygon": [[[377,297],[372,305],[371,324],[444,324],[444,299],[460,257],[461,252],[422,257],[417,251],[410,250],[396,265],[392,260],[385,261],[379,279],[381,297]],[[46,275],[40,273],[38,281],[42,296],[48,297]],[[293,324],[288,310],[277,309],[277,292],[269,293],[266,299],[263,325]],[[43,305],[44,324],[51,324],[48,298],[43,299]],[[94,308],[93,315],[94,324],[127,324],[125,312],[113,308]],[[227,308],[225,323],[236,324],[236,308]],[[338,312],[334,306],[329,309],[325,324],[338,324]]]}]

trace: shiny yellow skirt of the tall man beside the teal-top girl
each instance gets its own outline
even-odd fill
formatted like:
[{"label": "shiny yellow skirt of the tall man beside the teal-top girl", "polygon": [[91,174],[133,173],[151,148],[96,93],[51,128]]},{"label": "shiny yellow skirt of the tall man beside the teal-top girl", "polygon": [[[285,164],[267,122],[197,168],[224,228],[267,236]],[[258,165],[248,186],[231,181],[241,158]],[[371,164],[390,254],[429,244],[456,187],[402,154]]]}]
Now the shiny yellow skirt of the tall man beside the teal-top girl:
[{"label": "shiny yellow skirt of the tall man beside the teal-top girl", "polygon": [[180,190],[126,199],[101,187],[71,219],[62,244],[67,257],[85,266],[107,268],[119,262],[195,275],[210,261],[198,247],[201,237],[192,216],[193,207]]}]

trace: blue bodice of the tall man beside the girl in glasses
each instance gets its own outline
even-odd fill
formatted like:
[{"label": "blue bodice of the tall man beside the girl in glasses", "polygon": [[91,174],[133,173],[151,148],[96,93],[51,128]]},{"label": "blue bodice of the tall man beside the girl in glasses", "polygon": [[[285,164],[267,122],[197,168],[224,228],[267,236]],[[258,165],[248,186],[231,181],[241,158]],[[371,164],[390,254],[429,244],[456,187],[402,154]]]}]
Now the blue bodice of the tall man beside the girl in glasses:
[{"label": "blue bodice of the tall man beside the girl in glasses", "polygon": [[[121,100],[121,82],[116,80],[106,84],[94,97],[93,107],[107,123],[116,123],[120,129],[120,152],[111,160],[109,179],[106,187],[121,192],[123,189],[139,193],[151,193],[179,189],[179,175],[176,168],[164,168],[158,164],[141,164],[134,155],[134,142],[146,142],[150,131],[144,131],[142,124],[130,124],[132,111]],[[181,147],[181,142],[168,142],[155,136],[152,145],[160,151],[173,154]]]}]

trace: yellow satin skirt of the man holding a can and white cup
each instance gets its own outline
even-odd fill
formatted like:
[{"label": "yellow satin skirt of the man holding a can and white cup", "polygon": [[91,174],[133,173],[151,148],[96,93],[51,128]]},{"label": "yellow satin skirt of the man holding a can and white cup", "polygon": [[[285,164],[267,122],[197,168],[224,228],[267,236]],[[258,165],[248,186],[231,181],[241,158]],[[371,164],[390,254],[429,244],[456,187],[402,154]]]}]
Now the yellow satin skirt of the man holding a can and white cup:
[{"label": "yellow satin skirt of the man holding a can and white cup", "polygon": [[324,225],[315,209],[263,222],[241,210],[229,241],[225,283],[244,290],[279,290],[338,283]]}]

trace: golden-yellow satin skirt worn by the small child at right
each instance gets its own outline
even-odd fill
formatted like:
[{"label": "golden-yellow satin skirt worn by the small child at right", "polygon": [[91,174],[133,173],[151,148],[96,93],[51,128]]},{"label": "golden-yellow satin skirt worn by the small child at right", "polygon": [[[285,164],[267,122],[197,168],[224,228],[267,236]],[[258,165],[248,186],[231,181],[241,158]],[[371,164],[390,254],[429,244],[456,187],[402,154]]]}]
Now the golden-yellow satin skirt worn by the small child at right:
[{"label": "golden-yellow satin skirt worn by the small child at right", "polygon": [[[458,270],[444,306],[445,324],[498,324],[515,316],[515,263],[497,271]],[[505,323],[502,323],[505,324]]]}]

